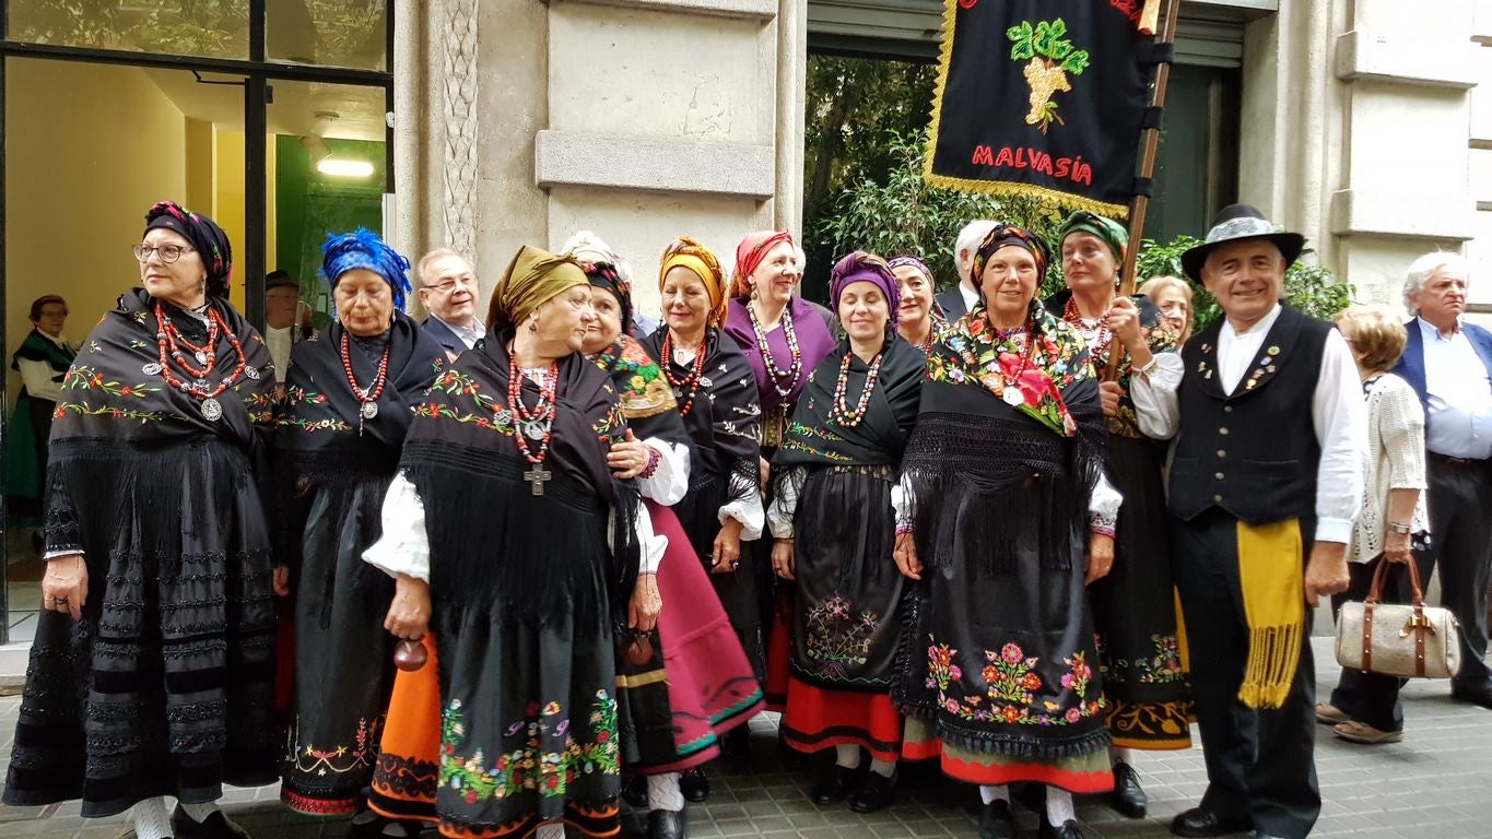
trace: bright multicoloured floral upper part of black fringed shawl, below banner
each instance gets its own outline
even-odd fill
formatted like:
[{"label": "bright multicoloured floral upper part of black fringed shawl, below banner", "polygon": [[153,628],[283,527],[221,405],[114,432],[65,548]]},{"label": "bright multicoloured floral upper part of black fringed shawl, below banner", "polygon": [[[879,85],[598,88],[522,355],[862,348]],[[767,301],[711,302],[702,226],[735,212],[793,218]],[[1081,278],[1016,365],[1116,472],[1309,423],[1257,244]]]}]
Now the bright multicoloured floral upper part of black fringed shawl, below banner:
[{"label": "bright multicoloured floral upper part of black fringed shawl, below banner", "polygon": [[1092,356],[1065,320],[1044,310],[1038,317],[1035,347],[1028,347],[1025,331],[997,332],[985,317],[983,304],[976,304],[934,344],[928,381],[982,386],[1052,431],[1064,437],[1077,434],[1062,389],[1094,377]]}]

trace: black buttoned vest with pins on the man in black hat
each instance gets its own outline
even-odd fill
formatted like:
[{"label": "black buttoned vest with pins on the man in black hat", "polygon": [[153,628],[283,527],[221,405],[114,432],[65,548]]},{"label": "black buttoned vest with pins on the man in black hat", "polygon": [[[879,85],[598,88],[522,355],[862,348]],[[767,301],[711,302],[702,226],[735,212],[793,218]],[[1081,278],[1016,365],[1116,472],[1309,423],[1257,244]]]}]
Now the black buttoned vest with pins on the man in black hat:
[{"label": "black buttoned vest with pins on the man in black hat", "polygon": [[1311,398],[1332,326],[1289,305],[1231,395],[1217,371],[1222,320],[1186,341],[1171,456],[1171,513],[1192,520],[1220,507],[1249,525],[1316,514],[1320,444]]}]

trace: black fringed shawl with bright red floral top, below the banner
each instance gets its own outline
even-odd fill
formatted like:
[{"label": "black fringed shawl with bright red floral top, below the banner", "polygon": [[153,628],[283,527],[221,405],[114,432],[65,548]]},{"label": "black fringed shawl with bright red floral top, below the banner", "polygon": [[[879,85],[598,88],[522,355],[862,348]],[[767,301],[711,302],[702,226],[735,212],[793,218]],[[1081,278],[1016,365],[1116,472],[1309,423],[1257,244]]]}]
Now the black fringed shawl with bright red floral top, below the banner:
[{"label": "black fringed shawl with bright red floral top, below the banner", "polygon": [[1009,571],[1032,528],[1047,568],[1070,568],[1082,544],[1104,452],[1098,380],[1068,323],[1040,308],[1034,323],[1031,349],[1024,331],[991,329],[980,304],[932,346],[903,459],[931,566]]}]

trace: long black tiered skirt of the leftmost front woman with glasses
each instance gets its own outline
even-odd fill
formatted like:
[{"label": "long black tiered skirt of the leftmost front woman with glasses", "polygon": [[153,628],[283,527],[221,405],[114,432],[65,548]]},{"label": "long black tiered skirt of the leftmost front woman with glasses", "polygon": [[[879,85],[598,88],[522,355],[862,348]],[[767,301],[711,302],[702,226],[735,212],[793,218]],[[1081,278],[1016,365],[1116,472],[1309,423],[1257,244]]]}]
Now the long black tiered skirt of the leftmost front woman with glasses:
[{"label": "long black tiered skirt of the leftmost front woman with glasses", "polygon": [[[52,444],[48,517],[88,565],[84,617],[42,612],[4,803],[82,815],[275,782],[270,544],[248,458],[216,437]],[[52,522],[49,522],[51,525]]]}]

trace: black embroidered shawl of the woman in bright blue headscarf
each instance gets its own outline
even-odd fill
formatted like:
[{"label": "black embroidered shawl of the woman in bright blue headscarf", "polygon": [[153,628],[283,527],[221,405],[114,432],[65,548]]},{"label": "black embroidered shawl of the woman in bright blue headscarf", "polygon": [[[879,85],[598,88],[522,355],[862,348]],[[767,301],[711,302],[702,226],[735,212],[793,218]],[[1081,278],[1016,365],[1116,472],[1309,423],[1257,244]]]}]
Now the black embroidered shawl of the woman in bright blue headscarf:
[{"label": "black embroidered shawl of the woman in bright blue headscarf", "polygon": [[[392,326],[382,335],[348,335],[348,359],[361,387],[374,381],[388,347],[388,379],[376,401],[377,416],[363,419],[361,402],[342,367],[345,334],[340,323],[333,323],[291,350],[285,396],[276,411],[276,565],[300,563],[304,510],[297,510],[297,498],[309,498],[321,486],[351,489],[369,478],[386,483],[394,477],[415,405],[448,364],[440,343],[403,311],[395,311]],[[380,495],[366,498],[372,502]],[[370,522],[379,519],[376,507],[361,514]]]}]

